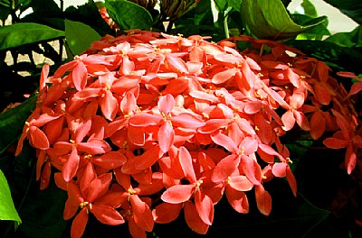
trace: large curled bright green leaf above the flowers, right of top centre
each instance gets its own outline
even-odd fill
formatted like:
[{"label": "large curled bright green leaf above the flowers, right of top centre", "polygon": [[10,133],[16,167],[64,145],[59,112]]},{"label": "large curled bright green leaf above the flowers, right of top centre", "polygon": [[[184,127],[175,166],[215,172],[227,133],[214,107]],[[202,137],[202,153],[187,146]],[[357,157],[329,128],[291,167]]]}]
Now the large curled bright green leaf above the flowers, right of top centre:
[{"label": "large curled bright green leaf above the flowers, right of top centre", "polygon": [[308,25],[299,25],[291,20],[281,0],[244,0],[241,8],[244,23],[259,39],[283,40],[326,21],[316,18]]}]

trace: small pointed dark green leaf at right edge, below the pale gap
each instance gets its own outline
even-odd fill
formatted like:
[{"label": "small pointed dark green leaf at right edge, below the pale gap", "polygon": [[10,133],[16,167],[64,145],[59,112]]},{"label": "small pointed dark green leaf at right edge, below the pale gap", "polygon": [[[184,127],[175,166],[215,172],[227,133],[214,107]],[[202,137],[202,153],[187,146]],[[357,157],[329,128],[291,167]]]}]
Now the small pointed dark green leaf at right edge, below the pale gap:
[{"label": "small pointed dark green leaf at right edge, below the pale gap", "polygon": [[345,47],[362,47],[362,26],[359,25],[352,32],[339,32],[329,36],[325,41]]}]

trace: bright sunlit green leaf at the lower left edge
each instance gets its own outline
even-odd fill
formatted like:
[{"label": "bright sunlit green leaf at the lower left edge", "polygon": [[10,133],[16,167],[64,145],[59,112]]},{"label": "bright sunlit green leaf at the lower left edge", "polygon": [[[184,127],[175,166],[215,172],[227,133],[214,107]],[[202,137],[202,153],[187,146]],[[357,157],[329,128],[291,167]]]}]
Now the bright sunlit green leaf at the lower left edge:
[{"label": "bright sunlit green leaf at the lower left edge", "polygon": [[0,170],[0,220],[14,221],[21,224],[22,220],[16,212],[10,188],[2,170]]}]

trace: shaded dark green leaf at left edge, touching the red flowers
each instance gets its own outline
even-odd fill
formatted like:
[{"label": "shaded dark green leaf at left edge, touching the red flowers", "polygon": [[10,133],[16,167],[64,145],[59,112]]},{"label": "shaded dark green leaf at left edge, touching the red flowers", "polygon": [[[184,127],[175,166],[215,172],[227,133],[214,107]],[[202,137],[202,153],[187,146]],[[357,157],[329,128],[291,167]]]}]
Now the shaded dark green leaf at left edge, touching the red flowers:
[{"label": "shaded dark green leaf at left edge, touching the red flowers", "polygon": [[24,122],[35,108],[36,96],[28,98],[23,104],[0,114],[0,154],[13,144],[23,131]]}]

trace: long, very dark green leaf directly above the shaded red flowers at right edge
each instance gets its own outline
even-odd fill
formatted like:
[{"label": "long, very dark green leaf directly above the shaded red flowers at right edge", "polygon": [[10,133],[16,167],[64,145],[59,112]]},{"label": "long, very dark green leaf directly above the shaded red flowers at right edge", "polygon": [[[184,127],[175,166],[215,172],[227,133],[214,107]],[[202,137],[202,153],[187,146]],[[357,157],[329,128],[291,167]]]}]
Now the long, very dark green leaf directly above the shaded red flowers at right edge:
[{"label": "long, very dark green leaf directly above the shaded red flowers at right edge", "polygon": [[357,50],[328,41],[298,40],[288,41],[287,44],[311,57],[325,61],[335,70],[362,73],[362,53]]}]

